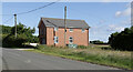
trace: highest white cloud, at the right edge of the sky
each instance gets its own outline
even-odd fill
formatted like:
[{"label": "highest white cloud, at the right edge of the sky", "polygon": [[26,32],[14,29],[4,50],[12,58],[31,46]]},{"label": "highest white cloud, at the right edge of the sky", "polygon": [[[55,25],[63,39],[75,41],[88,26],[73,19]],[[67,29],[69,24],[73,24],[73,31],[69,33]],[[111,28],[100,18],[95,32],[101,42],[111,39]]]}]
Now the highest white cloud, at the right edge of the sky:
[{"label": "highest white cloud, at the right edge of the sky", "polygon": [[116,11],[115,17],[127,17],[131,16],[131,7],[126,8],[124,11]]}]

